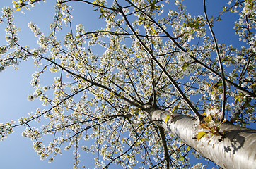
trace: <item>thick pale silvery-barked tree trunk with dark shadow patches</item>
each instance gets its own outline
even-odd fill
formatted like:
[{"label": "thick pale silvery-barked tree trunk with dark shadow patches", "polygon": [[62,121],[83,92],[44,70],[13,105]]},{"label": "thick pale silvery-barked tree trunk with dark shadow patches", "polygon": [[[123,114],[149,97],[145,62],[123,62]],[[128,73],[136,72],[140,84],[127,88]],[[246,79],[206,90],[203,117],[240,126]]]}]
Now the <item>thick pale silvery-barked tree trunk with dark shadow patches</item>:
[{"label": "thick pale silvery-barked tree trunk with dark shadow patches", "polygon": [[173,113],[173,117],[168,119],[167,115],[170,115],[168,111],[154,109],[150,112],[156,125],[174,134],[205,158],[222,168],[256,168],[256,130],[226,122],[219,130],[225,131],[222,138],[214,135],[211,139],[203,137],[197,140],[200,127],[195,118]]}]

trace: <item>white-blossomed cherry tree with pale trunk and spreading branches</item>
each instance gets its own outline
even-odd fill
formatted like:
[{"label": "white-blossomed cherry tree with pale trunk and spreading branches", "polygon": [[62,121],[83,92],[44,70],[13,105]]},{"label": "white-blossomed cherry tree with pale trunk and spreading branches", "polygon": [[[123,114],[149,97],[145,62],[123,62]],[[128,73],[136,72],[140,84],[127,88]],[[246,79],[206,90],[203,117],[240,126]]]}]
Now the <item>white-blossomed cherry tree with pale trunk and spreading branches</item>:
[{"label": "white-blossomed cherry tree with pale trunk and spreading branches", "polygon": [[[25,126],[42,160],[73,149],[74,168],[81,151],[96,154],[95,168],[190,168],[190,152],[222,168],[254,166],[256,132],[246,127],[255,123],[255,1],[231,0],[211,16],[204,0],[204,15],[192,16],[178,0],[57,0],[50,33],[29,23],[38,45],[23,46],[13,13],[39,1],[2,9],[0,70],[33,59],[28,100],[44,109],[0,124],[1,140]],[[74,25],[77,3],[91,6],[105,27]],[[240,17],[239,47],[216,39],[214,25],[228,13]],[[53,74],[52,84],[42,85],[44,74]],[[90,147],[81,144],[89,139]]]}]

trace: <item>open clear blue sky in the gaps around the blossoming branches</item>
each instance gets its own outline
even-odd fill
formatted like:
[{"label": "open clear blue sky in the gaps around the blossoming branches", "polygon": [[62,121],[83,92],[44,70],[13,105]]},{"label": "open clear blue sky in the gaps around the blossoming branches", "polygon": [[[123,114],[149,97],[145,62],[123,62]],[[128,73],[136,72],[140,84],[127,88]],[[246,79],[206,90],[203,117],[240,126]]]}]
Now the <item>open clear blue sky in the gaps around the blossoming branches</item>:
[{"label": "open clear blue sky in the gaps around the blossoming branches", "polygon": [[[2,0],[0,7],[12,6],[11,2],[12,0]],[[185,0],[185,2],[188,4],[187,10],[192,10],[192,13],[194,13],[192,15],[203,15],[202,1]],[[211,8],[211,14],[216,14],[216,11],[221,10],[224,5],[223,0],[209,0],[208,8]],[[88,14],[88,11],[91,11],[91,6],[81,5],[76,2],[76,6],[74,6],[75,23],[82,22],[86,30],[94,30],[94,27],[101,27],[98,20],[98,13],[97,15],[95,15],[95,13]],[[30,21],[33,21],[40,27],[40,30],[47,34],[47,32],[49,32],[49,25],[54,16],[53,3],[50,0],[47,0],[46,3],[40,2],[40,4],[36,4],[35,8],[32,8],[31,11],[24,9],[24,13],[25,14],[21,12],[15,13],[15,23],[22,29],[22,31],[19,32],[22,44],[34,46],[35,44],[32,42],[36,42],[36,39],[27,25]],[[222,25],[214,26],[216,31],[221,26],[230,27],[229,30],[225,29],[226,32],[222,32],[221,29],[218,30],[218,33],[221,33],[216,34],[219,43],[225,42],[233,44],[233,36],[236,35],[234,35],[233,25],[231,25],[231,23],[233,24],[234,18],[232,18],[232,16],[230,17],[229,23],[222,22]],[[5,44],[3,26],[4,24],[0,25],[0,44]],[[35,71],[33,61],[23,62],[18,68],[18,70],[7,68],[6,71],[0,73],[0,123],[5,123],[10,120],[16,121],[18,118],[28,115],[31,111],[35,111],[36,108],[42,107],[39,101],[27,101],[28,94],[33,92],[33,88],[30,86],[31,75]],[[57,156],[55,161],[50,164],[47,163],[47,160],[40,161],[39,156],[37,156],[33,150],[33,142],[21,137],[23,129],[24,127],[16,128],[14,134],[8,136],[6,141],[0,142],[0,168],[73,168],[72,151],[62,151],[62,156]],[[91,158],[86,156],[82,151],[81,154],[83,157],[83,159],[81,158],[81,165],[92,167],[93,163],[91,162],[93,161]]]}]

